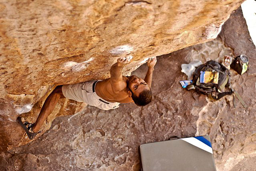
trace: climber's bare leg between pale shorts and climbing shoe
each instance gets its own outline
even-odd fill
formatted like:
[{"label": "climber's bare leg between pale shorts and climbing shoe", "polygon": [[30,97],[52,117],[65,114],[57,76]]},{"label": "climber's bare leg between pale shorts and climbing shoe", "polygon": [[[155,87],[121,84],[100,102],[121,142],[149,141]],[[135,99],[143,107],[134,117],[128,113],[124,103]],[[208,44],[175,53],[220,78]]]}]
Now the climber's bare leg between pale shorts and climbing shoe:
[{"label": "climber's bare leg between pale shorts and climbing shoe", "polygon": [[52,113],[55,105],[58,102],[58,99],[65,98],[61,88],[62,88],[62,85],[58,85],[45,100],[44,105],[40,111],[40,114],[38,115],[36,122],[32,127],[32,131],[34,133],[37,133],[39,131],[45,119],[48,117],[48,115],[50,115],[50,113]]}]

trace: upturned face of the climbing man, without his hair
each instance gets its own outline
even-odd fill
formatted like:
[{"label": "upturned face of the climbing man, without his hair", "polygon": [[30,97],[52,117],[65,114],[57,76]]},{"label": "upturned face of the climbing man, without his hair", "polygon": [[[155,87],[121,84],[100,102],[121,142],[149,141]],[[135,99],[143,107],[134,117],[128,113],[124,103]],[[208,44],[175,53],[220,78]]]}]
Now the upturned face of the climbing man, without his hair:
[{"label": "upturned face of the climbing man, without his hair", "polygon": [[129,77],[128,87],[137,97],[139,96],[139,93],[141,93],[141,91],[144,89],[150,89],[147,83],[137,76]]}]

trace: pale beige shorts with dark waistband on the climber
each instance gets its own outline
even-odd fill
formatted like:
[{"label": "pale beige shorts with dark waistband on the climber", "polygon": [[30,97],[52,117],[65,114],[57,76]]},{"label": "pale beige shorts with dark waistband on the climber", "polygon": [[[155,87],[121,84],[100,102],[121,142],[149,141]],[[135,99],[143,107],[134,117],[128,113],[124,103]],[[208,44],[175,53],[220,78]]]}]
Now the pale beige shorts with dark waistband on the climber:
[{"label": "pale beige shorts with dark waistband on the climber", "polygon": [[98,107],[102,110],[116,109],[119,107],[118,102],[109,102],[101,99],[96,92],[95,86],[98,81],[84,82],[78,84],[62,85],[62,93],[67,99],[73,99],[79,102],[85,102],[88,105]]}]

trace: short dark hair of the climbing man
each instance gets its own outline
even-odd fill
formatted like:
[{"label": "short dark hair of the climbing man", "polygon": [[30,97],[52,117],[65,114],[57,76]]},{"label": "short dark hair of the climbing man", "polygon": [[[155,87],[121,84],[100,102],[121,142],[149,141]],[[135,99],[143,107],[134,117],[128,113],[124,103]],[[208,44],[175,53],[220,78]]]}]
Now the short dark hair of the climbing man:
[{"label": "short dark hair of the climbing man", "polygon": [[151,88],[141,91],[138,97],[131,91],[131,98],[133,99],[134,103],[138,106],[145,106],[148,103],[150,103],[152,101],[152,96],[153,93],[151,91]]}]

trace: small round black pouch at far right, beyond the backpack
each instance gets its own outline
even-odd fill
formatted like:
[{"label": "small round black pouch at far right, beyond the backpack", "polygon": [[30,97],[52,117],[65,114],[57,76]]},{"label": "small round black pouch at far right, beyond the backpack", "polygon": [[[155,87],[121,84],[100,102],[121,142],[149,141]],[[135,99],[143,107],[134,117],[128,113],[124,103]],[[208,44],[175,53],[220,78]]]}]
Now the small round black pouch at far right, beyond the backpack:
[{"label": "small round black pouch at far right, beyond the backpack", "polygon": [[240,55],[235,58],[230,67],[238,74],[242,75],[248,70],[248,62],[246,55]]}]

